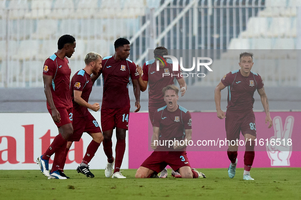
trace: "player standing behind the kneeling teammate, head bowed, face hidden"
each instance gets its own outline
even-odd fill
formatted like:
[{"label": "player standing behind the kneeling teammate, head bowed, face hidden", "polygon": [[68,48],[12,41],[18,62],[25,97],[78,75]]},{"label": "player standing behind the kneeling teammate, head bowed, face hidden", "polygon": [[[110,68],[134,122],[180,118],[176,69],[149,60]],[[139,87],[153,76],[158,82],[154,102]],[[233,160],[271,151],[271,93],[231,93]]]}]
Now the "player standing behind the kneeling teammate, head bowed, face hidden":
[{"label": "player standing behind the kneeling teammate, head bowed, face hidden", "polygon": [[[149,102],[148,102],[148,113],[151,123],[153,124],[153,116],[158,108],[166,105],[164,98],[162,96],[162,89],[168,85],[174,85],[174,77],[176,77],[179,85],[181,96],[186,92],[187,85],[183,77],[181,77],[180,68],[178,71],[173,71],[172,60],[167,59],[163,56],[168,55],[168,50],[165,47],[157,47],[154,50],[154,58],[143,64],[143,73],[141,66],[138,66],[137,70],[140,74],[139,84],[141,91],[145,91],[147,84],[149,85]],[[156,70],[156,62],[159,61],[159,71]],[[170,73],[173,76],[162,76],[164,73]],[[142,75],[143,74],[143,75]],[[160,178],[166,178],[168,175],[167,169],[163,169],[160,174]],[[172,170],[172,176],[176,178],[181,178],[178,172]]]}]

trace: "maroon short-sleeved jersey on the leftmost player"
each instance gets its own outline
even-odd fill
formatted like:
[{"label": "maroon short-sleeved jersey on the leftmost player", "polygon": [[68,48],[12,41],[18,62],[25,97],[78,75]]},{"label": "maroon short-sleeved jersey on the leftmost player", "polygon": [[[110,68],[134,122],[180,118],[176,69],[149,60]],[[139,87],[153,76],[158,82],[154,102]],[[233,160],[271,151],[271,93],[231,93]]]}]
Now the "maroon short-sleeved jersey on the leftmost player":
[{"label": "maroon short-sleeved jersey on the leftmost player", "polygon": [[[54,53],[46,59],[43,75],[52,76],[51,94],[54,106],[56,108],[72,108],[69,92],[71,67],[68,59],[65,57],[62,60]],[[50,109],[48,102],[47,109]]]}]

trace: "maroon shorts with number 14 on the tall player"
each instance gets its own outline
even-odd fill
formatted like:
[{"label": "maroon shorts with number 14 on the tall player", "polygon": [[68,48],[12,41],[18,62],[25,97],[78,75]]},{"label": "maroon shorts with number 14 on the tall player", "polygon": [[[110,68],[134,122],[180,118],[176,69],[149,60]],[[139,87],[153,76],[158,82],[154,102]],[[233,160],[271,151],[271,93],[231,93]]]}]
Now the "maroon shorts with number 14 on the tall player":
[{"label": "maroon shorts with number 14 on the tall player", "polygon": [[102,108],[100,112],[102,131],[115,127],[128,129],[129,108]]}]

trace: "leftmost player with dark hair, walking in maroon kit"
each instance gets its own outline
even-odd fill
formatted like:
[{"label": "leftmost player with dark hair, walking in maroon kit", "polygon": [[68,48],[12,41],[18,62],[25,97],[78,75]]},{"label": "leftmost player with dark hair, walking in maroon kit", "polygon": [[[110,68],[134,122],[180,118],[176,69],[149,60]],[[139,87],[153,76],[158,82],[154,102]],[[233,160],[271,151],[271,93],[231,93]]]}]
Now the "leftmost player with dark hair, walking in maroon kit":
[{"label": "leftmost player with dark hair, walking in maroon kit", "polygon": [[[64,159],[67,140],[73,132],[72,101],[69,91],[71,67],[67,57],[72,56],[75,47],[75,39],[72,36],[62,36],[58,41],[57,53],[46,59],[44,64],[43,81],[47,109],[59,128],[59,135],[54,138],[46,152],[37,159],[41,172],[48,179],[67,179],[59,168]],[[56,155],[49,174],[48,161],[54,153]]]}]

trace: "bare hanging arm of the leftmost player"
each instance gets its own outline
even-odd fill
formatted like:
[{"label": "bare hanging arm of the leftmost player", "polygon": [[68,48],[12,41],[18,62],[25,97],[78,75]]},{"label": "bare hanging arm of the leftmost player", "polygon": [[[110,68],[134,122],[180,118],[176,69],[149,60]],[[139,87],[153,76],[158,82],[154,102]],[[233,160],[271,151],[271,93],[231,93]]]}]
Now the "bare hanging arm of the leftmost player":
[{"label": "bare hanging arm of the leftmost player", "polygon": [[60,123],[61,115],[60,115],[59,111],[57,110],[56,106],[54,106],[52,94],[51,94],[52,76],[43,75],[43,81],[44,81],[44,92],[46,95],[47,102],[51,109],[52,119],[54,122]]}]

